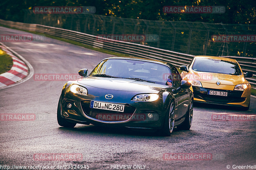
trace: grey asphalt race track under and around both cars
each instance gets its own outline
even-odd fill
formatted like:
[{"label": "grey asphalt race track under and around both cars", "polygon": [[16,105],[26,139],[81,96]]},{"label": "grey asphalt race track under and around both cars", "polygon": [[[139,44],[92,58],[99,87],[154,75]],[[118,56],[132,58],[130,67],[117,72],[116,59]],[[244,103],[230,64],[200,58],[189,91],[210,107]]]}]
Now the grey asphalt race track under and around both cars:
[{"label": "grey asphalt race track under and around both cars", "polygon": [[[27,33],[0,27],[0,34]],[[82,68],[91,71],[101,59],[109,56],[50,38],[3,43],[26,58],[35,74],[70,74]],[[89,169],[113,169],[113,165],[145,165],[145,169],[227,169],[230,165],[233,169],[233,165],[256,165],[256,121],[211,119],[216,113],[255,115],[255,98],[251,98],[249,111],[196,105],[190,130],[178,131],[175,128],[171,137],[161,137],[152,132],[93,125],[77,124],[73,129],[61,128],[56,111],[65,83],[30,78],[0,90],[1,114],[36,115],[34,121],[0,121],[0,169],[4,169],[1,165],[72,164],[89,165]],[[38,153],[76,153],[82,155],[82,159],[37,160],[33,156]],[[211,159],[170,160],[166,153],[207,153]]]}]

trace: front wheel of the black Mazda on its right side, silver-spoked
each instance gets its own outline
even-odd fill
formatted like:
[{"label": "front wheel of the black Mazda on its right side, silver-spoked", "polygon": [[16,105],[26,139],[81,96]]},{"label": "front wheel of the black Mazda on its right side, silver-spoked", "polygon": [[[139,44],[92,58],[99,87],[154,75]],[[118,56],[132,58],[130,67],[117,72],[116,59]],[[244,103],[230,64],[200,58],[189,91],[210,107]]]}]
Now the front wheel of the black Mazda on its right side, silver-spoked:
[{"label": "front wheel of the black Mazda on its right side, silver-spoked", "polygon": [[168,112],[166,113],[165,119],[164,119],[164,125],[161,129],[161,133],[163,136],[171,136],[171,133],[174,128],[174,111],[175,111],[175,104],[172,100],[170,104],[170,108],[168,109]]}]

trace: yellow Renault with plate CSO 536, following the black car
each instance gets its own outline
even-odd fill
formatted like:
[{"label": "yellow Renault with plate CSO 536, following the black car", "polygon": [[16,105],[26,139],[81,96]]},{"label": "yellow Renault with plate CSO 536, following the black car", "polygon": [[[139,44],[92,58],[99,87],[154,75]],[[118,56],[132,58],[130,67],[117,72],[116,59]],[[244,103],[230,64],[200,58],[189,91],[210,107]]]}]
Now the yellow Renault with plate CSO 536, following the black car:
[{"label": "yellow Renault with plate CSO 536, following the black car", "polygon": [[192,84],[194,101],[210,104],[250,107],[251,85],[236,60],[214,56],[196,56],[188,66],[180,66],[183,79]]}]

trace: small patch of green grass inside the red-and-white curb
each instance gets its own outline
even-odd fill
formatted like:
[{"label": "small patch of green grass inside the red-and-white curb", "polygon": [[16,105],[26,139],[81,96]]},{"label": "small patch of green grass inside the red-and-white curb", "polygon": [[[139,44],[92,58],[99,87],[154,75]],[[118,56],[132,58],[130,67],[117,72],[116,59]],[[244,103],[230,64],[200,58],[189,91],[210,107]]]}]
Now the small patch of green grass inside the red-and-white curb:
[{"label": "small patch of green grass inside the red-and-white curb", "polygon": [[13,65],[12,57],[6,54],[0,48],[0,74],[9,71],[12,68],[12,65]]}]

